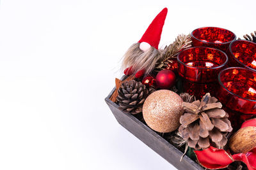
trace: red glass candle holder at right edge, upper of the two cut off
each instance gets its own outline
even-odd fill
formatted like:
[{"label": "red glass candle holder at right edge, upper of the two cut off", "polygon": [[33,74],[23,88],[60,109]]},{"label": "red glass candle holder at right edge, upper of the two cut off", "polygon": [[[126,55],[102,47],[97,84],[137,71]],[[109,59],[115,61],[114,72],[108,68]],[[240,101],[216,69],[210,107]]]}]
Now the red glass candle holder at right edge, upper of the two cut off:
[{"label": "red glass candle holder at right edge, upper of the two cut off", "polygon": [[246,67],[256,71],[256,43],[246,40],[236,40],[230,43],[228,65]]}]

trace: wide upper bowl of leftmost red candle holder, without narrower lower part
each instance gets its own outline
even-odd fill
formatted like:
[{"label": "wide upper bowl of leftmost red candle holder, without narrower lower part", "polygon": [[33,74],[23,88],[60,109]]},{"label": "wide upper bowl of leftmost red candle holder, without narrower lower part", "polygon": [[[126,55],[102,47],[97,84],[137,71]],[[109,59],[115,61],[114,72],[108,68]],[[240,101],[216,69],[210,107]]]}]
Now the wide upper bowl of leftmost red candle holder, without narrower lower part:
[{"label": "wide upper bowl of leftmost red candle holder, without narrower lower part", "polygon": [[225,53],[202,46],[183,50],[177,59],[179,75],[196,83],[217,81],[218,73],[227,64]]}]

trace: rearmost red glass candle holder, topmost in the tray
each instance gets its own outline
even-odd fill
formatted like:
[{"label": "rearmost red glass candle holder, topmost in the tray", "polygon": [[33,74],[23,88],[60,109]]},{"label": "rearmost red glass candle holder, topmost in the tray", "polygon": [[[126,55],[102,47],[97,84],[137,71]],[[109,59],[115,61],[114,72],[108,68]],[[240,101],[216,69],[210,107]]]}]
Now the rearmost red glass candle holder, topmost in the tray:
[{"label": "rearmost red glass candle holder, topmost in the tray", "polygon": [[191,32],[193,46],[208,46],[226,52],[236,34],[218,27],[202,27]]}]

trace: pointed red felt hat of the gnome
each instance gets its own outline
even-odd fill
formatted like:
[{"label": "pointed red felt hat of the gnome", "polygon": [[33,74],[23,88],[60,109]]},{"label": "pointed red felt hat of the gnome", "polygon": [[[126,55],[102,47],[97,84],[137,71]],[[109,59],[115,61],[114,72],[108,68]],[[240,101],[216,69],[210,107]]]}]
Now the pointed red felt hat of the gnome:
[{"label": "pointed red felt hat of the gnome", "polygon": [[164,26],[164,20],[167,15],[167,8],[164,8],[151,24],[148,26],[147,31],[143,34],[138,43],[146,42],[151,46],[154,46],[158,50],[158,45],[161,39],[161,34]]}]

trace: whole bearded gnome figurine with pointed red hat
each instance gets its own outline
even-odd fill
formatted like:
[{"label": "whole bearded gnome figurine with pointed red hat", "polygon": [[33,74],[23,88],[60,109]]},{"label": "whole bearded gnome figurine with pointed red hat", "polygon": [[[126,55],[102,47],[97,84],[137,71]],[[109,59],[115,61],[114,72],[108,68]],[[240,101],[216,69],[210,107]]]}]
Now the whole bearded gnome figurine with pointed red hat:
[{"label": "whole bearded gnome figurine with pointed red hat", "polygon": [[135,74],[136,78],[139,78],[153,71],[161,58],[158,45],[167,11],[167,8],[164,8],[148,26],[140,41],[131,45],[125,53],[122,62],[122,69],[126,68],[125,75]]}]

